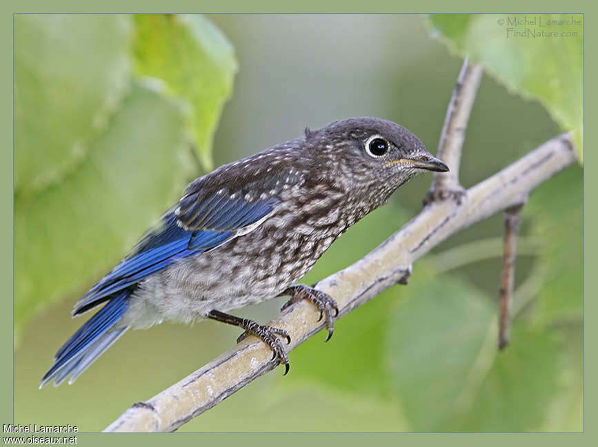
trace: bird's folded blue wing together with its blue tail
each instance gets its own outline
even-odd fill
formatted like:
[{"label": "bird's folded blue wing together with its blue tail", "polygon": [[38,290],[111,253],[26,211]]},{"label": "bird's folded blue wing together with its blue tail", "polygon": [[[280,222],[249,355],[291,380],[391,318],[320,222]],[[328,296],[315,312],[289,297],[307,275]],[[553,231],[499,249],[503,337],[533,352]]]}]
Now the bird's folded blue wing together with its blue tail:
[{"label": "bird's folded blue wing together with its blue tail", "polygon": [[54,355],[54,364],[43,375],[40,388],[52,380],[59,385],[69,375],[72,383],[126,332],[128,326],[117,322],[126,313],[128,298],[137,282],[181,258],[235,238],[240,231],[268,216],[277,203],[275,198],[249,202],[231,199],[228,194],[226,197],[214,194],[201,200],[195,193],[181,199],[177,210],[164,214],[159,227],[147,233],[130,255],[77,302],[73,315],[108,301]]}]

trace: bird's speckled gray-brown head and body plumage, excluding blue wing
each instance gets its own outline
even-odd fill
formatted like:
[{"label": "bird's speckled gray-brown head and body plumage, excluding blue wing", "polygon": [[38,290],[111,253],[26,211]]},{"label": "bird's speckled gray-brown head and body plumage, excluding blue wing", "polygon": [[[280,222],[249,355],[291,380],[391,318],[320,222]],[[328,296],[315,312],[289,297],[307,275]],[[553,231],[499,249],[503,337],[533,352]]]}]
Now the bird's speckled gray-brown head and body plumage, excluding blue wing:
[{"label": "bird's speckled gray-brown head and body plumage, excluding blue wing", "polygon": [[[353,118],[306,132],[190,183],[181,203],[210,194],[250,202],[276,198],[278,203],[251,231],[141,282],[121,324],[190,322],[212,309],[226,312],[262,302],[297,282],[344,231],[418,174],[416,169],[386,167],[384,160],[364,154],[363,141],[372,134],[390,141],[395,158],[427,154],[415,136],[395,123]],[[186,208],[178,211],[184,217]],[[195,217],[179,218],[179,225],[193,229]]]}]

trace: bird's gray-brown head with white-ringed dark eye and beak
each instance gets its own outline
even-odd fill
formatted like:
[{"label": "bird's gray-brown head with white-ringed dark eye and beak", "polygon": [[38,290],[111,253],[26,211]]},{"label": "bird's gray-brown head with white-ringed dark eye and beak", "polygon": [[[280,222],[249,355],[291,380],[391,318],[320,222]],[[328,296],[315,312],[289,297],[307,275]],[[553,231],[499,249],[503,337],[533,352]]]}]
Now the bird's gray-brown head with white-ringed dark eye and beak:
[{"label": "bird's gray-brown head with white-ringed dark eye and beak", "polygon": [[336,172],[336,180],[348,189],[365,188],[386,197],[423,171],[448,171],[417,136],[380,118],[349,118],[306,129],[306,143],[323,175]]}]

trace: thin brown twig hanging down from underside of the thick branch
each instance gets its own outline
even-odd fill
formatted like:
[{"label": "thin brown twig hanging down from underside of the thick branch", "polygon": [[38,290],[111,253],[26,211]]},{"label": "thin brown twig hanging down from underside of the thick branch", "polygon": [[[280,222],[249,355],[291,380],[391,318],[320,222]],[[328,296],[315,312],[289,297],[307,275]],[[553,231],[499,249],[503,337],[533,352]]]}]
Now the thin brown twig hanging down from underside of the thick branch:
[{"label": "thin brown twig hanging down from underside of the thick branch", "polygon": [[509,343],[509,323],[515,283],[515,259],[517,258],[517,232],[523,203],[508,207],[505,211],[504,256],[499,289],[499,349]]}]

